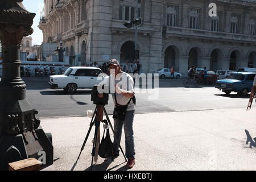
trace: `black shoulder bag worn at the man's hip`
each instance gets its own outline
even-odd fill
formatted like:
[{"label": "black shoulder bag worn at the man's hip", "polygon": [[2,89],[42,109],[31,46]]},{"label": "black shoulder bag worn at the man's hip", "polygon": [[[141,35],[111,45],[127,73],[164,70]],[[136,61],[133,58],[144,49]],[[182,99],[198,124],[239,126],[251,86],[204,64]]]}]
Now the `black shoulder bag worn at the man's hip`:
[{"label": "black shoulder bag worn at the man's hip", "polygon": [[113,113],[113,118],[124,121],[125,115],[126,115],[126,110],[127,110],[127,107],[129,106],[131,100],[133,100],[133,104],[135,105],[136,104],[135,96],[129,100],[127,105],[119,105],[117,102],[117,97],[115,96],[115,109],[114,109],[114,113]]}]

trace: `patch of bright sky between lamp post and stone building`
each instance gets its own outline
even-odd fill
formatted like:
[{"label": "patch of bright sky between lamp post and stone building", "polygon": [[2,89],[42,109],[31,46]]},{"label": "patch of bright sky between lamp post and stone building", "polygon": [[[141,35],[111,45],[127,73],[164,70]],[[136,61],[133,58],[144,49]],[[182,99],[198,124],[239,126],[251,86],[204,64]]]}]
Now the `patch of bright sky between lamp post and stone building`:
[{"label": "patch of bright sky between lamp post and stone building", "polygon": [[32,45],[41,45],[43,42],[43,32],[38,28],[40,22],[40,12],[43,10],[44,1],[43,0],[23,0],[24,7],[30,11],[30,13],[35,13],[34,23],[32,28],[34,32],[32,35]]}]

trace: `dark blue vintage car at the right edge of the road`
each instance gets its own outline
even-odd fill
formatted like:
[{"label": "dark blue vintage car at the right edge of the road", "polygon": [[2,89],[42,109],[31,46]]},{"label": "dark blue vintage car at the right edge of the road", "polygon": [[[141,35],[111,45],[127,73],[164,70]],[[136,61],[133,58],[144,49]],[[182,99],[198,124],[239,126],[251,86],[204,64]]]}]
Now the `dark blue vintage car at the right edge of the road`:
[{"label": "dark blue vintage car at the right edge of the road", "polygon": [[215,88],[226,94],[237,92],[240,96],[246,96],[251,92],[255,75],[253,72],[232,72],[227,79],[217,80]]}]

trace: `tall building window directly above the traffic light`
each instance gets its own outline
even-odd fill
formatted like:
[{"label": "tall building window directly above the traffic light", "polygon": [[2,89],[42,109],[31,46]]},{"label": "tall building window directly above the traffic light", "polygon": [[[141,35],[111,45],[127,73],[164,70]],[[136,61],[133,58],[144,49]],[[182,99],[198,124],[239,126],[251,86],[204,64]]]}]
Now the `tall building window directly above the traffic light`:
[{"label": "tall building window directly above the traffic light", "polygon": [[[131,3],[133,2],[133,3]],[[136,1],[121,1],[119,7],[119,19],[123,20],[133,20],[136,16]],[[136,18],[141,17],[141,1],[139,1],[138,5],[138,15]]]}]

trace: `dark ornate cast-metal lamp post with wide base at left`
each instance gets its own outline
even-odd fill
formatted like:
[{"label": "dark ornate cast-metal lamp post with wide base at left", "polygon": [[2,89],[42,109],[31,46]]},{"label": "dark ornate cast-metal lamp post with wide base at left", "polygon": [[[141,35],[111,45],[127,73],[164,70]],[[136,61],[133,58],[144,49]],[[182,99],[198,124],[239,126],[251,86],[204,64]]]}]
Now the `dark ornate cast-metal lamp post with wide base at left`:
[{"label": "dark ornate cast-metal lamp post with wide base at left", "polygon": [[[24,36],[31,35],[34,13],[28,12],[22,0],[0,3],[0,40],[3,50],[3,74],[0,81],[0,170],[8,164],[27,158],[53,163],[51,135],[44,133],[38,111],[26,99],[26,84],[20,78],[19,48]],[[48,136],[48,137],[47,137]]]}]

